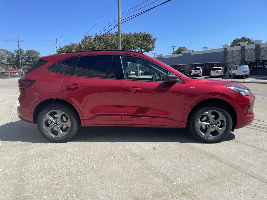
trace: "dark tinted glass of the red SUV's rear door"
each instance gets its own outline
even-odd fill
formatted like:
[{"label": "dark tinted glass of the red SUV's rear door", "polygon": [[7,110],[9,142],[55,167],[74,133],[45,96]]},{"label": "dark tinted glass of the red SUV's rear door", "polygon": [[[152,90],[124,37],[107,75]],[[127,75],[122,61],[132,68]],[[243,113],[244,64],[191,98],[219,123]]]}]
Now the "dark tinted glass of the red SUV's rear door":
[{"label": "dark tinted glass of the red SUV's rear door", "polygon": [[75,75],[114,78],[112,56],[82,56],[75,64]]}]

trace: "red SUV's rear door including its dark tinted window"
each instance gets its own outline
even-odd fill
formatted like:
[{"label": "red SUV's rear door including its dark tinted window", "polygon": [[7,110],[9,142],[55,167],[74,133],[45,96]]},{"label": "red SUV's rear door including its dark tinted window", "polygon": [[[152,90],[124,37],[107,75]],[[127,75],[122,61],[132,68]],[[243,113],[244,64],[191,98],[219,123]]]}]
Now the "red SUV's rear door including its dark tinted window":
[{"label": "red SUV's rear door including its dark tinted window", "polygon": [[86,126],[122,126],[122,88],[115,55],[79,56],[64,76],[61,95],[81,110]]}]

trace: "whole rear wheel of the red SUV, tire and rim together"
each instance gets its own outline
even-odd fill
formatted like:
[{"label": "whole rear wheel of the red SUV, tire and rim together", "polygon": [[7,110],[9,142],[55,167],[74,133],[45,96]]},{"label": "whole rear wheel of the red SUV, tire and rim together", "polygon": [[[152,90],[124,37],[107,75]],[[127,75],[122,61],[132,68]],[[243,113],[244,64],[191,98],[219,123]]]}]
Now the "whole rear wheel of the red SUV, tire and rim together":
[{"label": "whole rear wheel of the red SUV, tire and rim together", "polygon": [[68,106],[53,103],[44,107],[37,117],[41,135],[51,142],[66,142],[78,132],[79,118]]}]

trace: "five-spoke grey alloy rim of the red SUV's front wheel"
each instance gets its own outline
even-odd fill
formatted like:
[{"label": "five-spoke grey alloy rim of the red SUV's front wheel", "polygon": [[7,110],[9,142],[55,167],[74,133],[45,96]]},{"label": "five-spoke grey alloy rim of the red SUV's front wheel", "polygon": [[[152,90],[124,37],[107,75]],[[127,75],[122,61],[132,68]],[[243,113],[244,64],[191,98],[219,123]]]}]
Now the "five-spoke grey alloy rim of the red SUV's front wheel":
[{"label": "five-spoke grey alloy rim of the red SUV's front wheel", "polygon": [[197,129],[201,135],[208,138],[219,137],[226,128],[224,115],[217,110],[203,112],[197,120]]}]

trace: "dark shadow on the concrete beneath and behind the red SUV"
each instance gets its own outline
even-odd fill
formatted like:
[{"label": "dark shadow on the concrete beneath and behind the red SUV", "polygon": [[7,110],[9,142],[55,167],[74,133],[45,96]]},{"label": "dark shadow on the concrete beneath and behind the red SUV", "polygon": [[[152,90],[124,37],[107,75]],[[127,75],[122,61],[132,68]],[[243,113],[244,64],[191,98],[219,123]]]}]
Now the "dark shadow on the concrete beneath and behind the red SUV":
[{"label": "dark shadow on the concrete beneath and behind the red SUV", "polygon": [[[4,133],[7,124],[1,125]],[[2,138],[3,133],[0,133]],[[235,138],[230,133],[223,141]],[[51,143],[42,137],[36,124],[18,120],[10,122],[3,141],[21,141],[30,143]],[[167,127],[83,127],[70,141],[88,142],[181,142],[202,143],[196,140],[187,128]]]}]

